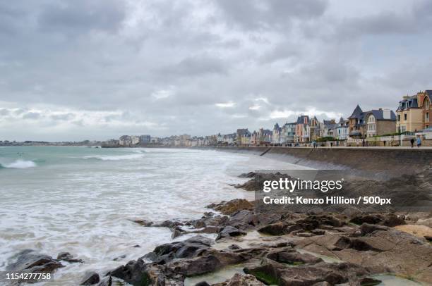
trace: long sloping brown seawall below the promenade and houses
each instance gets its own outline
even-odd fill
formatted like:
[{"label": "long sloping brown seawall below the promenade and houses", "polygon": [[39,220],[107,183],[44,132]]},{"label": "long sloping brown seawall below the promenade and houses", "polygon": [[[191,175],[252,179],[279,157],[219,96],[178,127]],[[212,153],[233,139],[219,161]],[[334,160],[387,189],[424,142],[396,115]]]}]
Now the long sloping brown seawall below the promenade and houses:
[{"label": "long sloping brown seawall below the promenade and houses", "polygon": [[[270,149],[269,149],[270,148]],[[432,166],[432,149],[308,148],[308,147],[214,147],[219,151],[263,154],[264,157],[317,169],[349,169],[389,178],[417,173]],[[267,152],[266,152],[267,151]],[[259,166],[254,166],[259,168]]]}]

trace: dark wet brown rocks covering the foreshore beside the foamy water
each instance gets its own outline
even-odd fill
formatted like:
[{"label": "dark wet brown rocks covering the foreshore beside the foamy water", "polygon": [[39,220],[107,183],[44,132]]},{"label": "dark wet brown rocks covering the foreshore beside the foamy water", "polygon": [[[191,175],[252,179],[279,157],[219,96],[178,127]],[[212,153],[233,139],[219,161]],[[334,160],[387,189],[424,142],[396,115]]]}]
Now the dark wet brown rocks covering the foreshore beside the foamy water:
[{"label": "dark wet brown rocks covering the foreshore beside the foamy water", "polygon": [[[235,187],[253,191],[263,178],[280,175],[242,174],[250,180]],[[349,189],[374,192],[375,186],[384,192],[385,186],[408,184],[405,199],[412,202],[413,192],[421,194],[416,196],[421,201],[431,199],[431,170],[397,180],[396,185],[394,180],[368,180],[361,184],[365,187],[352,182]],[[404,199],[403,190],[398,191],[391,194]],[[364,213],[331,206],[262,210],[257,201],[245,199],[210,204],[208,209],[196,220],[134,220],[138,228],[169,228],[172,238],[187,238],[161,244],[107,273],[88,273],[80,285],[378,285],[383,274],[402,282],[432,283],[431,211]],[[23,251],[8,270],[51,273],[62,267],[61,261],[83,263],[70,254],[52,259]],[[233,267],[234,273],[227,271]],[[219,278],[213,279],[212,273]]]}]

